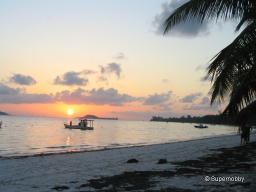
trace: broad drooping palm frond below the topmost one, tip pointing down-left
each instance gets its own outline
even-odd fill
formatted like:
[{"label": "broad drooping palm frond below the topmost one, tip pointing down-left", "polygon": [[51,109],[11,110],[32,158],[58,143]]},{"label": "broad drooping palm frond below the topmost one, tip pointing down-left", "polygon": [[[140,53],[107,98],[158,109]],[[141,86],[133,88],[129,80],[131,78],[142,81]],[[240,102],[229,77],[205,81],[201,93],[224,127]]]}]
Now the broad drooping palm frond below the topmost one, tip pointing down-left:
[{"label": "broad drooping palm frond below the topmost one, tip pointing down-left", "polygon": [[[206,78],[212,76],[213,83],[208,94],[211,104],[229,98],[237,79],[255,62],[256,57],[256,20],[248,25],[234,41],[222,49],[207,67]],[[212,60],[211,59],[211,60]]]}]

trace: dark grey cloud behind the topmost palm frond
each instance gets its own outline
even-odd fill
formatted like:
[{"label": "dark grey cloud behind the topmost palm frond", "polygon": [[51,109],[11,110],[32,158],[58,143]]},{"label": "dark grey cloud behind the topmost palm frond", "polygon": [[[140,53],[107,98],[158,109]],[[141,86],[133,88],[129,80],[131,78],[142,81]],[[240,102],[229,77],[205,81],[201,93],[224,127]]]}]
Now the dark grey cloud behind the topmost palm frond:
[{"label": "dark grey cloud behind the topmost palm frond", "polygon": [[[154,33],[163,35],[163,24],[176,8],[186,3],[188,0],[171,0],[169,3],[162,3],[162,12],[156,14],[152,21]],[[193,23],[191,20],[186,20],[184,23],[174,26],[169,30],[167,35],[170,36],[183,36],[183,37],[196,37],[198,35],[207,35],[209,33],[208,25]]]}]

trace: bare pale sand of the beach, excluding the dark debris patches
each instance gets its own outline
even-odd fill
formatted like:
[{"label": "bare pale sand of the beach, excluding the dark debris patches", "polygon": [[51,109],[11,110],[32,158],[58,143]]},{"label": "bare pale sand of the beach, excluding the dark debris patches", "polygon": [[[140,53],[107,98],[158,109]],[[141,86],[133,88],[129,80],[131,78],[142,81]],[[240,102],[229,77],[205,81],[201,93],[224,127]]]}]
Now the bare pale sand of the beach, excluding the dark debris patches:
[{"label": "bare pale sand of the beach, excluding the dark debris patches", "polygon": [[[256,134],[251,134],[250,142],[255,140]],[[101,151],[71,152],[25,158],[1,158],[0,191],[56,191],[57,188],[54,189],[56,186],[66,186],[66,189],[62,189],[63,191],[97,191],[98,189],[85,186],[89,179],[113,176],[125,171],[174,171],[179,165],[171,163],[173,161],[197,159],[207,154],[220,153],[219,150],[211,149],[230,148],[239,146],[239,144],[240,136],[232,135]],[[125,163],[131,158],[136,158],[139,162]],[[167,163],[158,164],[160,158],[166,158]],[[249,163],[255,164],[256,159],[254,158],[254,161]],[[210,167],[207,168],[207,170],[210,169]],[[175,174],[163,178],[156,175],[150,177],[150,180],[159,182],[151,188],[144,189],[160,190],[161,188],[174,187],[191,189],[191,191],[248,191],[248,188],[244,189],[239,182],[237,185],[235,185],[235,181],[206,182],[205,176],[210,178],[212,176],[244,177],[243,182],[250,182],[252,171],[253,168],[246,169],[246,171],[234,170],[233,173],[228,172],[226,174],[195,174],[189,176]],[[230,188],[230,184],[234,184],[234,186]],[[111,186],[108,186],[102,188],[102,190],[107,191],[110,188]]]}]

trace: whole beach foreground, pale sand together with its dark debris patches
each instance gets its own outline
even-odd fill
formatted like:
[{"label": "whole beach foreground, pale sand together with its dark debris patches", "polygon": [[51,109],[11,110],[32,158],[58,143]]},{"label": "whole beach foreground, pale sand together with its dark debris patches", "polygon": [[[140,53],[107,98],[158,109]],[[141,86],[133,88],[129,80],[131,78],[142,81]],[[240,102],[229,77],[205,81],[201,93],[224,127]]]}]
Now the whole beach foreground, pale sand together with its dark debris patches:
[{"label": "whole beach foreground, pale sand together with its dark debris patches", "polygon": [[[256,164],[256,134],[250,137],[248,145],[239,145],[239,135],[229,135],[0,158],[0,191],[248,191]],[[126,163],[132,158],[138,162]],[[206,176],[244,180],[205,181]]]}]

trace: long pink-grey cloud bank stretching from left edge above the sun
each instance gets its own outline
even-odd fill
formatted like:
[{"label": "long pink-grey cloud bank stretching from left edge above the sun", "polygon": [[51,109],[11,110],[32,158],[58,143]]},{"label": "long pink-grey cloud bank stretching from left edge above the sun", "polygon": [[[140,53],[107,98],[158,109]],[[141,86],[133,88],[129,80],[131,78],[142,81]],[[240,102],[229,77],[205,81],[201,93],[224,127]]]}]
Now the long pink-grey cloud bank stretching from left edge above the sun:
[{"label": "long pink-grey cloud bank stretching from left edge above the sun", "polygon": [[85,90],[80,87],[73,91],[63,90],[53,94],[30,94],[25,89],[11,88],[0,83],[0,103],[55,103],[66,104],[95,104],[122,106],[124,103],[141,101],[144,97],[134,97],[128,94],[120,94],[114,88],[98,88]]}]

